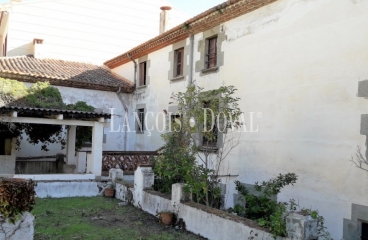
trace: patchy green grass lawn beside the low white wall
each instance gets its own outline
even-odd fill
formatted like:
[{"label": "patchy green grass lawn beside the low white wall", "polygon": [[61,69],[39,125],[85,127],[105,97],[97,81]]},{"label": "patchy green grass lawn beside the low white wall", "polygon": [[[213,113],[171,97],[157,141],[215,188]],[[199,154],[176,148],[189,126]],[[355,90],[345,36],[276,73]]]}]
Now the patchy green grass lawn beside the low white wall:
[{"label": "patchy green grass lawn beside the low white wall", "polygon": [[118,203],[104,197],[37,199],[34,239],[202,239]]}]

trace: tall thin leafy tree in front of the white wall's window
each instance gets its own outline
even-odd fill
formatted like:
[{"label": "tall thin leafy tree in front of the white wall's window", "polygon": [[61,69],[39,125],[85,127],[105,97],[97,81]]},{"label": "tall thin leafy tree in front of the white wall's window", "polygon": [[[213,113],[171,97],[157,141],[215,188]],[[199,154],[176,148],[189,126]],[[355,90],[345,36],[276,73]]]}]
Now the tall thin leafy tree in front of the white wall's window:
[{"label": "tall thin leafy tree in front of the white wall's window", "polygon": [[[169,154],[172,155],[166,156],[167,159],[184,157],[187,160],[184,162],[191,167],[186,168],[186,174],[183,175],[186,176],[185,182],[195,200],[207,206],[220,207],[221,191],[218,184],[223,163],[231,150],[240,143],[240,99],[234,97],[235,91],[233,86],[203,91],[203,88],[190,84],[185,92],[171,97],[178,105],[176,114],[180,118],[173,121],[172,131],[163,135],[167,142],[163,155],[171,151]],[[170,144],[168,139],[176,144]],[[176,153],[182,151],[185,154],[177,156]],[[173,161],[173,164],[183,162]],[[160,163],[157,164],[159,166]],[[181,167],[180,164],[176,166]],[[156,168],[156,172],[162,173],[164,168]]]}]

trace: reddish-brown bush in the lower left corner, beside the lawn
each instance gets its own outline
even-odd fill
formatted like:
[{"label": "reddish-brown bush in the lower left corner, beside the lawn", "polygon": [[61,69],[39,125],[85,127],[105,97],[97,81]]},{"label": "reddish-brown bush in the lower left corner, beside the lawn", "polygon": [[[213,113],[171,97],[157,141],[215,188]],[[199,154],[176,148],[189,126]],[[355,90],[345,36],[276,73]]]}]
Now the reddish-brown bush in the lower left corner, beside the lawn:
[{"label": "reddish-brown bush in the lower left corner, beside the lawn", "polygon": [[31,211],[35,205],[34,187],[35,182],[31,179],[0,178],[0,216],[14,223],[19,214]]}]

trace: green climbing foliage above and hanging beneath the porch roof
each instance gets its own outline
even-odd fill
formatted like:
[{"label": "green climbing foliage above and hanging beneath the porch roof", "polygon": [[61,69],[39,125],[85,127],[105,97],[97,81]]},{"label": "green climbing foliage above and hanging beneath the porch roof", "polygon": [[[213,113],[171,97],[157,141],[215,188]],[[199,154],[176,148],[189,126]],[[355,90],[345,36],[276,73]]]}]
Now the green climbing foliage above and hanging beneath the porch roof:
[{"label": "green climbing foliage above and hanging beneath the porch roof", "polygon": [[[82,101],[65,104],[59,90],[50,86],[48,82],[37,82],[27,88],[22,82],[3,78],[0,78],[0,106],[94,111],[93,106]],[[65,128],[61,125],[0,122],[0,133],[6,134],[7,137],[15,137],[17,149],[20,149],[23,133],[27,135],[29,143],[33,145],[41,143],[43,151],[49,150],[47,146],[50,143],[60,143],[63,149],[66,144],[64,132]],[[79,149],[91,136],[90,127],[77,127],[76,148]]]}]

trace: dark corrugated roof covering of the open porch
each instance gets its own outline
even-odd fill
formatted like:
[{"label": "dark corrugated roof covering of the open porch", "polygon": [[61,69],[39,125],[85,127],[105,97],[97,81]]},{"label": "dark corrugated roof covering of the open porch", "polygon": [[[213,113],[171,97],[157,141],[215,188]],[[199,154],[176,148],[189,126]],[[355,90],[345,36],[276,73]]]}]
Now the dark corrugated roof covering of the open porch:
[{"label": "dark corrugated roof covering of the open porch", "polygon": [[18,112],[18,117],[44,117],[56,114],[63,114],[64,119],[90,119],[90,118],[111,118],[111,114],[102,112],[85,112],[77,110],[30,108],[30,107],[0,107],[0,114]]}]

